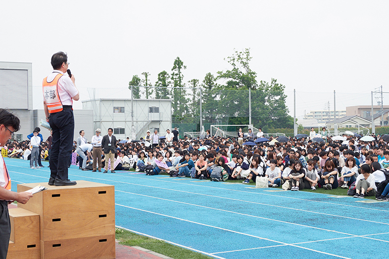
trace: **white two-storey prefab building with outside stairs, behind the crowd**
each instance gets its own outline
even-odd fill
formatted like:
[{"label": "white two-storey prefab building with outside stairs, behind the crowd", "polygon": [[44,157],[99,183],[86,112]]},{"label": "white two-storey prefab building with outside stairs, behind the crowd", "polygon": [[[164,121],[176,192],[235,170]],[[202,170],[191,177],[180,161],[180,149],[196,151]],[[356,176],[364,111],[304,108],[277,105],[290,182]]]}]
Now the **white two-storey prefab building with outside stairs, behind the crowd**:
[{"label": "white two-storey prefab building with outside stairs, behind the crowd", "polygon": [[117,139],[134,139],[133,135],[140,139],[155,129],[165,136],[172,126],[171,100],[166,99],[133,99],[131,105],[131,99],[100,98],[82,101],[82,109],[93,110],[94,130],[101,128],[106,135],[108,128],[113,128]]}]

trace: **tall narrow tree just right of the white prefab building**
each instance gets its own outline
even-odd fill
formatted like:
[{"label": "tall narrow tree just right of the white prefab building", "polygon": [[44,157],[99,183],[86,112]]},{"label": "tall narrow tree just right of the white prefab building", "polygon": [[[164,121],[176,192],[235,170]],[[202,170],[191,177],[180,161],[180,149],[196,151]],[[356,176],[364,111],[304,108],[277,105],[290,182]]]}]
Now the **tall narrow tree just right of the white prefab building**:
[{"label": "tall narrow tree just right of the white prefab building", "polygon": [[173,121],[181,122],[186,114],[186,97],[185,97],[185,89],[182,87],[185,86],[183,83],[184,76],[182,75],[182,70],[186,69],[184,63],[181,61],[179,57],[174,60],[171,80],[173,81]]}]

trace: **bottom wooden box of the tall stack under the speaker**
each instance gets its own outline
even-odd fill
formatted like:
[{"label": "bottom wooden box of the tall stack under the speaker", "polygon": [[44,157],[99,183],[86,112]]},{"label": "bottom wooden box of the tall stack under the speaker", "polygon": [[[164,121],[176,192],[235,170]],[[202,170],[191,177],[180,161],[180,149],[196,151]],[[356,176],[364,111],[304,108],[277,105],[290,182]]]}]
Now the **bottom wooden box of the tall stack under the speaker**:
[{"label": "bottom wooden box of the tall stack under the speaker", "polygon": [[113,259],[116,257],[115,235],[53,241],[41,240],[40,246],[41,259]]}]

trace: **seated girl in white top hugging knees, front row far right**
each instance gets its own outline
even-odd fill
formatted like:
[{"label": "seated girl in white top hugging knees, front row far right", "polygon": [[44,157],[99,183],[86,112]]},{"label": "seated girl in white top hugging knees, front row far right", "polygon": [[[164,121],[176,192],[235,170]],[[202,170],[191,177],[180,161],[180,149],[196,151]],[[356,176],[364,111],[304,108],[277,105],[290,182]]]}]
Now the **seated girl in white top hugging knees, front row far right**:
[{"label": "seated girl in white top hugging knees, front row far right", "polygon": [[362,165],[361,174],[358,175],[355,181],[355,190],[354,198],[364,198],[365,196],[373,196],[377,193],[375,177],[371,174],[371,168],[368,165]]}]

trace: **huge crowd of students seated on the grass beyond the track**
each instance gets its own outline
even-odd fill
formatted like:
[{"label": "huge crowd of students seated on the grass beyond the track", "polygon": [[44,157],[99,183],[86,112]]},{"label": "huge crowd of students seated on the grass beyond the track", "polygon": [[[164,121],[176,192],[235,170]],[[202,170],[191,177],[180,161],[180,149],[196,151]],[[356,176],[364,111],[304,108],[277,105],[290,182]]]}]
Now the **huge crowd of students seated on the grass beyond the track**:
[{"label": "huge crowd of students seated on the grass beyond the track", "polygon": [[[42,142],[42,160],[48,159],[47,147],[48,141]],[[9,142],[6,148],[12,158],[29,159],[28,141]],[[286,183],[291,191],[330,190],[339,186],[349,189],[354,184],[354,197],[375,195],[378,200],[389,200],[389,146],[382,138],[357,142],[350,137],[348,145],[329,138],[326,143],[290,138],[286,143],[274,145],[265,142],[241,146],[235,138],[208,134],[205,139],[185,136],[169,146],[162,141],[154,148],[144,142],[118,143],[116,149],[115,162],[119,163],[115,163],[115,170],[133,168],[149,175],[243,180],[245,184],[256,182],[257,177],[267,177],[269,186]],[[104,165],[104,153],[102,162]]]}]

